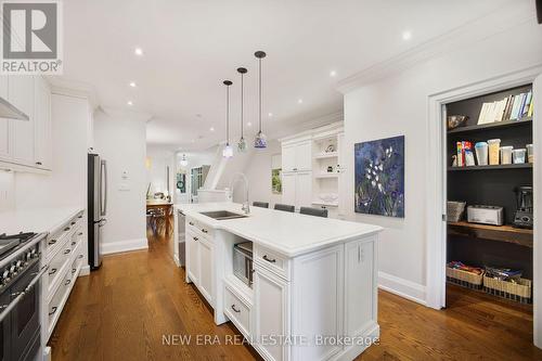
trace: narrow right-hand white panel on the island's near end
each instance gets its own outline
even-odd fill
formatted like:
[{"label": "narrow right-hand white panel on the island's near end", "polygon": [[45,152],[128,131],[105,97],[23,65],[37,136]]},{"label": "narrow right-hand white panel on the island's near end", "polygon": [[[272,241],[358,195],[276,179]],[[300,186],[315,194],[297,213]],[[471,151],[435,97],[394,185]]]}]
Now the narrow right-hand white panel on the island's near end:
[{"label": "narrow right-hand white panel on the island's near end", "polygon": [[376,323],[376,298],[367,298],[376,289],[374,242],[346,244],[345,332],[360,335]]}]

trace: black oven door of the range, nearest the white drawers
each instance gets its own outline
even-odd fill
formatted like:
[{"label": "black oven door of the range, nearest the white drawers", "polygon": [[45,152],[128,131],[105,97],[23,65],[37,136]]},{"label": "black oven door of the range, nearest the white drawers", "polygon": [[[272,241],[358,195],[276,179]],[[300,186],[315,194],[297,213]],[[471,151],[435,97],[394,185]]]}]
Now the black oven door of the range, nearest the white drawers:
[{"label": "black oven door of the range, nearest the white drawers", "polygon": [[[35,262],[11,288],[14,299],[39,274],[39,262]],[[39,349],[36,337],[39,338],[39,282],[28,289],[11,312],[11,336],[13,360],[33,360]],[[36,349],[36,346],[38,349]]]}]

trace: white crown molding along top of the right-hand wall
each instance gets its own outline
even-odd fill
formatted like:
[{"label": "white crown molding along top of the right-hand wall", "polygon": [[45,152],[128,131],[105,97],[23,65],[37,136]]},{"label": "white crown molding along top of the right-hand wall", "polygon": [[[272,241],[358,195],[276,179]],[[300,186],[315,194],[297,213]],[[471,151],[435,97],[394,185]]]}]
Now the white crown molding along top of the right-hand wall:
[{"label": "white crown molding along top of the right-hand wall", "polygon": [[337,90],[348,93],[362,86],[399,74],[429,59],[446,54],[450,49],[482,41],[526,23],[537,22],[537,15],[528,1],[514,1],[487,15],[465,23],[447,34],[423,42],[384,62],[374,64],[337,82]]}]

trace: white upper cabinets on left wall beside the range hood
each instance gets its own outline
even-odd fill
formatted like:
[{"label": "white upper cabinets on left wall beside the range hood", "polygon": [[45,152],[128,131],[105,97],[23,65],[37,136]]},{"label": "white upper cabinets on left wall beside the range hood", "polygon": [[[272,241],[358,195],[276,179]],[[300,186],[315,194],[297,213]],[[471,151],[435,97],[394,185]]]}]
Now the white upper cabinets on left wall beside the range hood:
[{"label": "white upper cabinets on left wall beside the range hood", "polygon": [[52,163],[51,89],[41,77],[0,77],[0,96],[29,120],[0,118],[0,168],[50,170]]}]

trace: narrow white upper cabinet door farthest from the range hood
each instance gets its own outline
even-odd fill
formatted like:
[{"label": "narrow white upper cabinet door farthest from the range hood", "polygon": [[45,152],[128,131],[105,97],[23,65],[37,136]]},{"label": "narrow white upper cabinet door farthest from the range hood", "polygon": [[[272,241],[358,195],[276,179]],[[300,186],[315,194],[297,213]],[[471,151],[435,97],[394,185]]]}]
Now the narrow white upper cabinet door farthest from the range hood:
[{"label": "narrow white upper cabinet door farthest from the range hood", "polygon": [[34,119],[35,164],[38,168],[51,169],[51,89],[41,77],[37,77],[35,82]]}]

